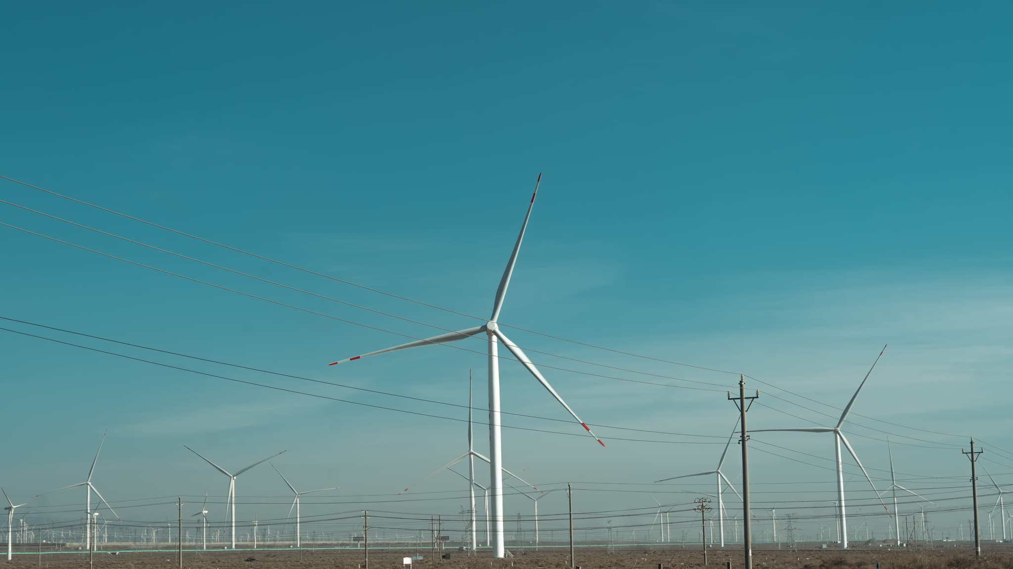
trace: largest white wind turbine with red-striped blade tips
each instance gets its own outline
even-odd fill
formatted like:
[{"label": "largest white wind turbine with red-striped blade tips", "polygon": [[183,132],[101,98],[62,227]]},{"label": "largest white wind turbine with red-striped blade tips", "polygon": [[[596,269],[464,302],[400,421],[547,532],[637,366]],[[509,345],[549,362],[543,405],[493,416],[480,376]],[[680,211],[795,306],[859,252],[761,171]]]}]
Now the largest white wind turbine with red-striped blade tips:
[{"label": "largest white wind turbine with red-striped blade tips", "polygon": [[[538,380],[538,383],[542,384],[549,394],[552,395],[574,418],[580,426],[582,426],[596,440],[605,446],[601,438],[595,435],[588,427],[588,424],[580,420],[580,417],[570,409],[569,405],[559,397],[549,382],[542,376],[541,372],[531,362],[528,355],[518,347],[510,338],[503,334],[502,330],[496,324],[496,320],[499,318],[499,311],[502,309],[503,299],[506,297],[506,288],[510,284],[511,275],[514,273],[514,265],[517,263],[517,255],[521,250],[521,242],[524,240],[524,232],[528,228],[528,220],[531,218],[531,210],[535,206],[535,196],[538,195],[538,184],[541,182],[542,175],[538,174],[538,180],[535,182],[535,191],[531,195],[531,202],[528,205],[528,214],[524,218],[524,224],[521,226],[521,233],[517,237],[517,243],[514,244],[514,251],[511,253],[510,260],[506,262],[506,268],[503,270],[503,275],[499,279],[499,287],[496,289],[496,296],[492,303],[492,315],[489,317],[488,322],[482,324],[481,326],[474,326],[472,328],[467,328],[465,330],[460,330],[457,332],[448,332],[446,334],[440,334],[432,338],[426,338],[423,340],[415,340],[405,344],[397,345],[394,347],[389,347],[386,349],[381,349],[378,351],[371,351],[369,353],[364,353],[361,355],[356,355],[348,357],[346,359],[340,359],[337,361],[332,361],[330,365],[335,363],[343,363],[345,361],[353,361],[356,359],[361,359],[363,357],[368,357],[370,355],[377,355],[380,353],[387,353],[388,351],[396,351],[399,349],[407,349],[410,347],[419,347],[432,344],[442,344],[453,342],[457,340],[462,340],[471,336],[484,333],[488,337],[488,365],[489,365],[489,454],[492,455],[491,469],[489,473],[489,490],[492,493],[492,518],[493,518],[493,530],[492,530],[492,557],[502,558],[505,555],[504,548],[504,535],[503,535],[503,496],[502,496],[502,445],[500,437],[500,424],[499,424],[499,356],[497,352],[498,343],[502,342],[506,346],[506,349],[517,357],[525,368],[531,372],[531,375]],[[474,509],[474,508],[472,508]]]}]

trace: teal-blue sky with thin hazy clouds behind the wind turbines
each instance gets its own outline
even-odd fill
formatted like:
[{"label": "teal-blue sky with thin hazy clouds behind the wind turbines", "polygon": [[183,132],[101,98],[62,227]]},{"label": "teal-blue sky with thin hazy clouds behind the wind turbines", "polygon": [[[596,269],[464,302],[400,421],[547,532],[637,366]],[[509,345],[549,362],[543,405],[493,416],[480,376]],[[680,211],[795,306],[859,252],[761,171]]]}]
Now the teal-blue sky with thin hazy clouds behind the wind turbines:
[{"label": "teal-blue sky with thin hazy clouds behind the wind turbines", "polygon": [[[4,200],[416,323],[9,205],[5,224],[305,310],[0,227],[0,316],[455,405],[467,402],[472,369],[484,408],[481,339],[326,363],[486,318],[544,172],[500,320],[655,358],[510,332],[587,422],[660,432],[598,427],[601,449],[504,360],[503,409],[534,416],[504,423],[563,433],[504,429],[508,468],[544,488],[579,483],[588,510],[652,515],[654,498],[685,503],[712,484],[613,483],[713,468],[723,446],[713,437],[735,419],[725,391],[737,374],[777,386],[748,380],[763,392],[752,428],[833,426],[820,413],[840,414],[888,343],[854,407],[862,416],[845,425],[877,488],[889,486],[889,435],[902,484],[939,504],[938,539],[969,517],[967,436],[983,441],[996,480],[1013,484],[1008,3],[106,2],[3,12],[0,175],[478,319],[6,180]],[[108,429],[95,483],[124,518],[174,514],[124,500],[224,494],[225,478],[183,444],[227,469],[286,450],[276,465],[297,488],[341,486],[309,512],[450,515],[465,505],[453,475],[420,480],[466,450],[461,407],[0,326],[458,419],[4,332],[0,485],[15,500],[83,480]],[[794,511],[809,534],[833,526],[830,510],[813,507],[835,497],[832,439],[754,435],[756,509],[780,503],[779,515]],[[486,452],[481,424],[476,440]],[[737,484],[736,453],[725,470]],[[845,464],[852,511],[881,511]],[[361,497],[409,484],[449,493]],[[76,511],[60,507],[83,497],[74,492],[32,507],[74,517],[59,513]],[[257,467],[239,479],[237,515],[284,517],[288,492]],[[506,502],[508,512],[530,507]],[[540,508],[563,511],[562,494]],[[211,509],[219,519],[221,504]],[[884,537],[884,516],[865,519]]]}]

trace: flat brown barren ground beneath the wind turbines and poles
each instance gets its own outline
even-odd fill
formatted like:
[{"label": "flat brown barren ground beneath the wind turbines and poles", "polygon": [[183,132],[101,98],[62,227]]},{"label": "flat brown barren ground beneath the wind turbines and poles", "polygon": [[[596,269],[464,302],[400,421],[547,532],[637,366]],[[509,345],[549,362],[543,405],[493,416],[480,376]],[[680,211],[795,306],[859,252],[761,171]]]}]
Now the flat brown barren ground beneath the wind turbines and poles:
[{"label": "flat brown barren ground beneath the wind turbines and poles", "polygon": [[[406,556],[421,555],[424,559],[414,562],[414,569],[465,569],[465,568],[553,568],[568,566],[568,551],[565,548],[542,549],[541,551],[514,551],[514,558],[493,560],[488,552],[479,552],[468,557],[465,552],[448,551],[449,559],[436,558],[428,549],[370,550],[371,568],[397,569],[402,567]],[[708,567],[714,569],[742,567],[743,554],[737,549],[708,551]],[[609,553],[603,548],[578,548],[577,565],[586,569],[656,569],[664,567],[703,567],[703,552],[700,549],[675,546],[671,548],[630,548],[617,549]],[[981,563],[975,561],[969,548],[943,548],[935,550],[903,551],[886,548],[838,550],[765,550],[754,552],[753,564],[756,569],[1013,569],[1013,547],[995,545],[986,550]],[[81,568],[88,566],[87,553],[48,553],[41,556],[15,555],[11,562],[4,562],[10,569],[31,567]],[[135,569],[176,567],[175,552],[133,552],[94,554],[94,567],[108,569]],[[184,551],[183,567],[187,569],[277,569],[277,568],[333,568],[360,569],[364,567],[362,550],[238,550],[238,551]]]}]

